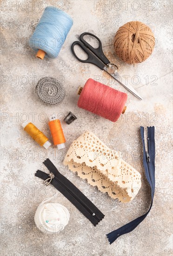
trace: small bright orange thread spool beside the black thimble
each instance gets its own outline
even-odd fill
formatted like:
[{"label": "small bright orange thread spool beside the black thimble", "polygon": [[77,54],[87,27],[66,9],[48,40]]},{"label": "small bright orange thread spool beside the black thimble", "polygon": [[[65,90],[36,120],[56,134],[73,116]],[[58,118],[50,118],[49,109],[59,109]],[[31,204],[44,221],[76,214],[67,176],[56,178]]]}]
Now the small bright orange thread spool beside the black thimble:
[{"label": "small bright orange thread spool beside the black thimble", "polygon": [[60,124],[60,120],[59,119],[55,119],[55,116],[51,116],[49,118],[49,128],[52,134],[52,138],[53,138],[53,144],[57,145],[58,149],[62,149],[65,148],[65,142],[66,139],[64,137],[64,133]]}]

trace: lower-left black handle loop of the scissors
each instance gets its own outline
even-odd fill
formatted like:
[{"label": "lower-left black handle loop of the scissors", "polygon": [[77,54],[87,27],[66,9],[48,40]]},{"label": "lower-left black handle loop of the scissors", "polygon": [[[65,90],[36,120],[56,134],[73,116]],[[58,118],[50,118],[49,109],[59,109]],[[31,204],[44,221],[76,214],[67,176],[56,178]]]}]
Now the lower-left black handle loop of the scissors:
[{"label": "lower-left black handle loop of the scissors", "polygon": [[[74,51],[74,46],[75,45],[79,45],[83,50],[84,52],[88,55],[88,58],[87,60],[81,60],[75,53]],[[85,62],[85,63],[92,63],[94,65],[96,65],[97,67],[100,67],[102,70],[104,69],[105,65],[99,61],[99,59],[97,59],[97,57],[95,55],[93,55],[88,49],[87,47],[80,41],[75,41],[73,42],[72,44],[72,52],[74,54],[74,56],[76,57],[76,59],[78,59],[78,61],[81,61],[81,62]]]}]

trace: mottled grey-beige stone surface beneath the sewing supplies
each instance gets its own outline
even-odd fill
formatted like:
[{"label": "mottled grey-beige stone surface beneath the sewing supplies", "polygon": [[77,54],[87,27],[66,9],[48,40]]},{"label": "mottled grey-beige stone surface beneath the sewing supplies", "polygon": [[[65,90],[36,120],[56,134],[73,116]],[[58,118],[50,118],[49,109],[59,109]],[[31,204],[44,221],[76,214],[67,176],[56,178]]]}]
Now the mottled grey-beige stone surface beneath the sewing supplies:
[{"label": "mottled grey-beige stone surface beneath the sewing supplies", "polygon": [[[74,24],[58,58],[41,61],[28,47],[28,38],[40,19],[44,3],[56,6],[59,3],[72,16]],[[172,1],[45,0],[27,1],[26,5],[22,0],[4,0],[1,9],[1,112],[4,113],[1,119],[1,255],[172,255]],[[131,20],[140,20],[151,27],[157,42],[152,56],[136,66],[126,65],[113,53],[115,32]],[[100,79],[126,92],[105,72],[74,58],[70,46],[85,31],[100,37],[106,56],[119,66],[121,74],[130,76],[128,81],[144,97],[140,101],[128,93],[126,114],[116,123],[77,107],[76,90],[88,78]],[[37,81],[45,75],[63,79],[66,97],[57,107],[43,105],[35,95]],[[134,75],[139,76],[139,84],[134,84],[138,83]],[[51,138],[47,117],[55,112],[63,119],[68,111],[77,115],[78,120],[70,126],[62,124],[67,139],[64,151],[40,148],[21,127],[26,116],[32,121],[31,113],[35,113],[35,125]],[[150,189],[142,166],[140,125],[156,128],[153,208],[138,229],[109,245],[105,234],[113,230],[113,225],[118,228],[142,215],[150,203]],[[86,130],[99,136],[108,147],[120,150],[123,159],[142,175],[142,188],[132,202],[123,204],[103,195],[63,166],[67,148]],[[46,171],[42,164],[46,157],[105,214],[96,229],[58,191],[53,202],[63,204],[70,212],[64,233],[45,235],[35,227],[33,218],[38,205],[55,192],[52,186],[45,190],[43,182],[34,177],[38,168]]]}]

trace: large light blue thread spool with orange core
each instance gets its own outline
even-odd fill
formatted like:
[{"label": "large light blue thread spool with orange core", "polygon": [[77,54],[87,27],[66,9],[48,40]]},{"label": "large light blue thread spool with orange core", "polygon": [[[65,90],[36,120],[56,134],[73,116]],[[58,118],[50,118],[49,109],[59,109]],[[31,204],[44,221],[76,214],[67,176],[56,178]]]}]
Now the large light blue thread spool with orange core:
[{"label": "large light blue thread spool with orange core", "polygon": [[46,7],[29,40],[29,46],[41,60],[55,59],[73,25],[72,18],[56,7]]}]

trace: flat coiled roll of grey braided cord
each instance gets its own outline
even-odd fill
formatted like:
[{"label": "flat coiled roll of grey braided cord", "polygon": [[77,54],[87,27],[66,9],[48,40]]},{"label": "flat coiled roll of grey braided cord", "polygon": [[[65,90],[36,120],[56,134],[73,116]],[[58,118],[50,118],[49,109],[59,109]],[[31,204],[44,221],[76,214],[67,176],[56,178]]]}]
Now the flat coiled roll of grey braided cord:
[{"label": "flat coiled roll of grey braided cord", "polygon": [[38,81],[36,94],[47,105],[57,105],[66,95],[64,86],[54,77],[43,77]]}]

